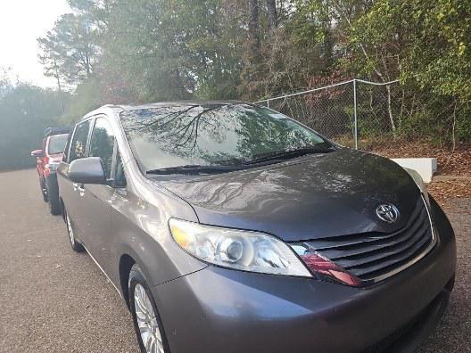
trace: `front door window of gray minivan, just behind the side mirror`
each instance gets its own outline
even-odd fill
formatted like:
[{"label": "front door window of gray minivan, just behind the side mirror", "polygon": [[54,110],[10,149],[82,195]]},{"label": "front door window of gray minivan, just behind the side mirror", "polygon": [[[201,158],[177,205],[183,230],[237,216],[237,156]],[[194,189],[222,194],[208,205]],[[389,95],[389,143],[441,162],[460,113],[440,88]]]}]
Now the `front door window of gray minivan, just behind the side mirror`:
[{"label": "front door window of gray minivan, just behind the side mirror", "polygon": [[114,148],[114,135],[112,127],[105,118],[97,118],[90,140],[90,157],[101,157],[104,174],[107,179],[112,177],[112,154]]}]

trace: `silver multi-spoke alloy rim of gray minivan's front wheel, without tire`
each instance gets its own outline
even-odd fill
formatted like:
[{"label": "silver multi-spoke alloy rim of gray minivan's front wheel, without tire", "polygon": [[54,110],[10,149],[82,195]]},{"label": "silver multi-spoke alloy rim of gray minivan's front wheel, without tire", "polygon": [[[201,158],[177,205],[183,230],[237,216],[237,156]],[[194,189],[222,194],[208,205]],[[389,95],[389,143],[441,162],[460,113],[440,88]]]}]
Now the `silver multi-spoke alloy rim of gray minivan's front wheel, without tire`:
[{"label": "silver multi-spoke alloy rim of gray minivan's front wheel, without tire", "polygon": [[136,283],[134,287],[134,307],[137,326],[146,353],[164,353],[161,339],[161,330],[153,305],[142,284]]}]

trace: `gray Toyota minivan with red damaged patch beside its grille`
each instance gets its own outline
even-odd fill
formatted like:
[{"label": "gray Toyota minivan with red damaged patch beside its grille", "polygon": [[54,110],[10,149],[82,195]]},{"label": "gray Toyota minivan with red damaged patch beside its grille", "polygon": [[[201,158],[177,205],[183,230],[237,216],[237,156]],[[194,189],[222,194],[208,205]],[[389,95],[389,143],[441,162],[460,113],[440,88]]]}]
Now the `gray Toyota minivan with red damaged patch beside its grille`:
[{"label": "gray Toyota minivan with red damaged patch beside its grille", "polygon": [[104,106],[58,182],[72,250],[142,352],[412,351],[453,288],[453,230],[417,173],[266,107]]}]

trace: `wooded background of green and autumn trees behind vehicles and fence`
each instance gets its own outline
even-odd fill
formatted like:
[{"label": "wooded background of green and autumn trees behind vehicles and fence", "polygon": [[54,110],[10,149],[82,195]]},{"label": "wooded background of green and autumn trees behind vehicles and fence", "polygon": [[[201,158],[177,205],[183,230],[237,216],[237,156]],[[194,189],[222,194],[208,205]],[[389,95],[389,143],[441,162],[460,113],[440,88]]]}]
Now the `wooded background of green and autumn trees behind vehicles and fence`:
[{"label": "wooded background of green and autumn trees behind vehicles and fence", "polygon": [[105,103],[253,102],[350,78],[400,79],[395,99],[410,113],[395,138],[471,140],[469,1],[69,4],[70,13],[38,34],[38,60],[57,87],[9,82],[0,73],[0,169],[34,164],[29,151],[45,127]]}]

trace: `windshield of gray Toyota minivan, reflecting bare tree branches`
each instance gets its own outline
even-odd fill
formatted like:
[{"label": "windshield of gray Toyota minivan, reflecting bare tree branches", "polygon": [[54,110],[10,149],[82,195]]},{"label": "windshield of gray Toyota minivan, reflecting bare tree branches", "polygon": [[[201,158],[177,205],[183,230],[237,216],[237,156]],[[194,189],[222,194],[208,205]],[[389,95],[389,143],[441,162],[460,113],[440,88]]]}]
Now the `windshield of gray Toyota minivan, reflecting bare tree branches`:
[{"label": "windshield of gray Toyota minivan, reflecting bare tree branches", "polygon": [[121,121],[145,171],[240,165],[270,152],[330,148],[277,111],[249,104],[181,104],[123,111]]}]

